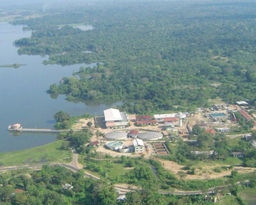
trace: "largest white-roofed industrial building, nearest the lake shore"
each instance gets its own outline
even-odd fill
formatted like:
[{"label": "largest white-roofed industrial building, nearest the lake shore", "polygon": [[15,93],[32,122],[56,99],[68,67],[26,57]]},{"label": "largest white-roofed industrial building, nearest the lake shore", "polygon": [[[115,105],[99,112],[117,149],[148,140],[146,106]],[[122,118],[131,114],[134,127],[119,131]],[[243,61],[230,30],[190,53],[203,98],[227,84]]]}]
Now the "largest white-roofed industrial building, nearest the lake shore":
[{"label": "largest white-roofed industrial building, nearest the lake shore", "polygon": [[106,109],[104,111],[106,128],[114,129],[114,128],[125,128],[128,124],[128,116],[126,112],[120,112],[118,109]]}]

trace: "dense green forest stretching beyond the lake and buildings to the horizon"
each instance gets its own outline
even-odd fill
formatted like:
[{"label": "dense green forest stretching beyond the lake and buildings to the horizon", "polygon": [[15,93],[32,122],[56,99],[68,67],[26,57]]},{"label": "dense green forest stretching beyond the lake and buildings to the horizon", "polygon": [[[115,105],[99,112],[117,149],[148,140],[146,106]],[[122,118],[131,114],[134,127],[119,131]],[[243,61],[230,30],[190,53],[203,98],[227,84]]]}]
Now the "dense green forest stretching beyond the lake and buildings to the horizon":
[{"label": "dense green forest stretching beyond the lake and buildings to the horizon", "polygon": [[80,5],[16,20],[33,32],[14,44],[19,54],[48,55],[45,64],[99,62],[51,85],[68,99],[132,99],[122,109],[139,114],[190,111],[217,96],[255,105],[255,11],[237,1]]}]

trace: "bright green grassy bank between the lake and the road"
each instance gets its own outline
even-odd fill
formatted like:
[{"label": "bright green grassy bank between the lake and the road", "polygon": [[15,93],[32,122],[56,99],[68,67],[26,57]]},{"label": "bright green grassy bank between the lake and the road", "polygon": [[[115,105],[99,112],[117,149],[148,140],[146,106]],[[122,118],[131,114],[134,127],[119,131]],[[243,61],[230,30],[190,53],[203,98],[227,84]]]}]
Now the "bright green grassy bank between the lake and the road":
[{"label": "bright green grassy bank between the lake and the road", "polygon": [[15,152],[0,153],[1,166],[18,166],[32,163],[68,162],[72,159],[72,152],[60,149],[63,140],[44,146]]}]

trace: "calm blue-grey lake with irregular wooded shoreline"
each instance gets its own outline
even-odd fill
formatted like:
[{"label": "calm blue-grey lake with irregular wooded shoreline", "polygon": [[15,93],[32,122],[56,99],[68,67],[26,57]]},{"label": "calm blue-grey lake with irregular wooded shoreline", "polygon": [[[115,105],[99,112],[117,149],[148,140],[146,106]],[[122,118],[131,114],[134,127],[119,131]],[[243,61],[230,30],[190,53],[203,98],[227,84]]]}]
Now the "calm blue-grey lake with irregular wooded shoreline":
[{"label": "calm blue-grey lake with irregular wooded shoreline", "polygon": [[13,42],[31,36],[31,31],[23,31],[22,25],[0,23],[0,65],[25,64],[20,68],[0,68],[0,152],[16,151],[44,145],[56,140],[56,134],[9,133],[8,125],[20,123],[24,128],[53,128],[53,115],[63,110],[71,116],[89,113],[103,114],[104,109],[120,105],[121,102],[85,101],[68,102],[65,96],[52,99],[46,93],[51,84],[62,77],[70,77],[81,66],[42,65],[46,57],[17,54]]}]

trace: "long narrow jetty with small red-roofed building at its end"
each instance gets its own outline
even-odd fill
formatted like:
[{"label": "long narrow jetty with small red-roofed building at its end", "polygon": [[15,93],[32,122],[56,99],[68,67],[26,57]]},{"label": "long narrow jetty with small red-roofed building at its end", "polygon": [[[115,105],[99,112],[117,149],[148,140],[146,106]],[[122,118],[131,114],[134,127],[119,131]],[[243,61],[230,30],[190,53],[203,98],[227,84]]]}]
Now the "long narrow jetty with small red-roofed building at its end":
[{"label": "long narrow jetty with small red-roofed building at its end", "polygon": [[61,133],[69,130],[55,130],[55,129],[37,129],[37,128],[23,128],[20,124],[8,126],[9,131],[17,131],[20,133]]}]

